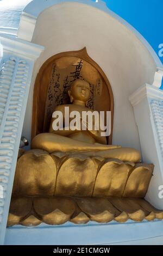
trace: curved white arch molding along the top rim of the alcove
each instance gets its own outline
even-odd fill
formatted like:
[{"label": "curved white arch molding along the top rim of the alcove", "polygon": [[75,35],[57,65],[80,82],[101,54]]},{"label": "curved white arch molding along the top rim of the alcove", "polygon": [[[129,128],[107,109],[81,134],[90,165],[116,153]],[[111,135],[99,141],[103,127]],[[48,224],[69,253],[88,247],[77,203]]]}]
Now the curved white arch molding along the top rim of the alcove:
[{"label": "curved white arch molding along the top rim of the alcove", "polygon": [[162,76],[163,76],[163,72],[162,72],[163,65],[162,65],[159,57],[153,50],[152,46],[149,45],[147,40],[145,38],[143,38],[143,36],[138,31],[136,31],[136,29],[134,27],[129,25],[129,23],[127,21],[123,20],[120,16],[118,16],[113,11],[111,11],[106,6],[106,3],[103,2],[102,0],[98,1],[97,3],[92,2],[91,0],[78,0],[78,1],[74,1],[74,0],[48,0],[48,1],[33,0],[32,2],[27,4],[26,8],[24,8],[24,10],[23,10],[21,20],[20,20],[20,26],[18,28],[18,33],[17,33],[18,38],[21,38],[21,39],[24,39],[27,41],[31,41],[32,37],[33,37],[37,17],[42,13],[42,11],[49,7],[52,7],[53,5],[62,4],[62,3],[66,3],[66,2],[67,3],[74,2],[74,3],[90,5],[93,8],[97,8],[101,11],[104,11],[105,13],[107,13],[108,15],[110,15],[111,17],[116,19],[118,22],[120,22],[122,25],[126,26],[142,42],[142,44],[147,48],[148,52],[153,57],[154,62],[157,66],[157,70],[156,70],[155,76],[154,76],[153,86],[158,87],[158,88],[161,86]]}]

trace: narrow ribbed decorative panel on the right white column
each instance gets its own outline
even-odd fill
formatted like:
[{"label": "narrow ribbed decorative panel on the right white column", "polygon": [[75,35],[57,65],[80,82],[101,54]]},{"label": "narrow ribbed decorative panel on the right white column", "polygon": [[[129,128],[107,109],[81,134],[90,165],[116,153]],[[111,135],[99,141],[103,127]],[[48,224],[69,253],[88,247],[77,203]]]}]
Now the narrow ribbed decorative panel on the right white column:
[{"label": "narrow ribbed decorative panel on the right white column", "polygon": [[163,160],[163,101],[152,100],[150,104]]}]

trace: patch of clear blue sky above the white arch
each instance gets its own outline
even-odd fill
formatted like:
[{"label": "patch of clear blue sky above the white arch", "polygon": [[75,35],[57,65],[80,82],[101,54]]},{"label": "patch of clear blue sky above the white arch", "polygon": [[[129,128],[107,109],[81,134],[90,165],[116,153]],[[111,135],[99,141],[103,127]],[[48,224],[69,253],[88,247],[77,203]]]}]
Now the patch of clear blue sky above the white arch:
[{"label": "patch of clear blue sky above the white arch", "polygon": [[[163,0],[103,0],[139,31],[158,54],[163,44]],[[96,2],[96,0],[95,0]],[[163,57],[160,57],[163,63]]]}]

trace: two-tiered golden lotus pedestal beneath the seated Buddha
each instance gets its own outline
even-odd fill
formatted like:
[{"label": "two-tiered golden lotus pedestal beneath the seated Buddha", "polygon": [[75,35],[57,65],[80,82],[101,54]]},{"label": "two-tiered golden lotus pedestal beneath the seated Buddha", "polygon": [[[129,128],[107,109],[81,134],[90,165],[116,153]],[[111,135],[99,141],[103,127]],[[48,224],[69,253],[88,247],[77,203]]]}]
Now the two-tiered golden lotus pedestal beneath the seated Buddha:
[{"label": "two-tiered golden lotus pedestal beneath the seated Buddha", "polygon": [[17,161],[8,226],[163,219],[145,199],[153,164],[29,150]]}]

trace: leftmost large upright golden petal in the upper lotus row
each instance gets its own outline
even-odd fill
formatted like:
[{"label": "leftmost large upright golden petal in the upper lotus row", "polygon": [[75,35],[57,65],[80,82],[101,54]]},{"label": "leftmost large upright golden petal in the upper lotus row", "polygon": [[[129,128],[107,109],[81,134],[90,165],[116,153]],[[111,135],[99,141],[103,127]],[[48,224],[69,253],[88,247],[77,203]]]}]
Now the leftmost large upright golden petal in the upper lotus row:
[{"label": "leftmost large upright golden petal in the upper lotus row", "polygon": [[30,150],[17,161],[12,193],[26,196],[53,196],[57,168],[45,151]]}]

